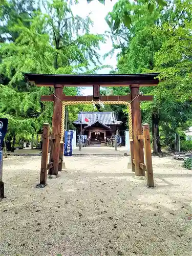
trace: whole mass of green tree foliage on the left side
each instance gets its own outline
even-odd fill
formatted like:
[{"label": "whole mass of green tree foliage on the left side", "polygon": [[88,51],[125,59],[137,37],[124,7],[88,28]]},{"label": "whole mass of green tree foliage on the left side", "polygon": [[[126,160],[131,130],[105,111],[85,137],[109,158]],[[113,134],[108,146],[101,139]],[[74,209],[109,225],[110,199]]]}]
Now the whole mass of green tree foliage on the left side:
[{"label": "whole mass of green tree foliage on the left side", "polygon": [[[77,1],[42,1],[36,9],[32,0],[2,5],[0,112],[9,118],[7,137],[29,138],[43,122],[51,123],[53,103],[40,102],[40,96],[52,94],[53,89],[26,83],[23,72],[76,74],[100,68],[97,50],[104,37],[90,34],[92,21],[74,16],[72,4]],[[78,89],[65,88],[64,93],[76,95]],[[71,120],[77,112],[75,106],[69,107]]]}]

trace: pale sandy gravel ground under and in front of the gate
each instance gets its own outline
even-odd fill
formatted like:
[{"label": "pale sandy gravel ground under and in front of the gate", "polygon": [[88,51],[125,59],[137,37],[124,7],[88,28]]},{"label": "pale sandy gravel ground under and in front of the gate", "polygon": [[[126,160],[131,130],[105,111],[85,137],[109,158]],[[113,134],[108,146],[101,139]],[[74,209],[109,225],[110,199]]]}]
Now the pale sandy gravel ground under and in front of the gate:
[{"label": "pale sandy gravel ground under and in front of the gate", "polygon": [[5,159],[0,255],[191,256],[191,173],[170,158],[153,163],[155,189],[117,156],[66,158],[41,189],[40,157]]}]

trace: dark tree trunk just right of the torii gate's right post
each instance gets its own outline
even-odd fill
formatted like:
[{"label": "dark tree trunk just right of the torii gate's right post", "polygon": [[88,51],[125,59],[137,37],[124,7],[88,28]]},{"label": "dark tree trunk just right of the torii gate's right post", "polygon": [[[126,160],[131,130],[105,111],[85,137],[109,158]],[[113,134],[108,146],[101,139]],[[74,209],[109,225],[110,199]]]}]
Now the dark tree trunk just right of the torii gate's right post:
[{"label": "dark tree trunk just right of the torii gate's right post", "polygon": [[159,116],[152,114],[152,137],[153,137],[153,156],[162,154],[159,136]]}]

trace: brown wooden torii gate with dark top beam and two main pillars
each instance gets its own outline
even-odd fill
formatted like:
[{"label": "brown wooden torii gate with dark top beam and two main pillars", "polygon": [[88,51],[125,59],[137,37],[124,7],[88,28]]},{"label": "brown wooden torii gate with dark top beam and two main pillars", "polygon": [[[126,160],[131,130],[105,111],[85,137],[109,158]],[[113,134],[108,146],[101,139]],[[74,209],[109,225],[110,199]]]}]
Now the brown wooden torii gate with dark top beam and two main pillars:
[{"label": "brown wooden torii gate with dark top beam and two main pillars", "polygon": [[[53,101],[54,110],[52,118],[52,150],[49,169],[50,175],[57,175],[62,169],[59,156],[63,155],[63,141],[60,139],[62,102],[91,103],[92,101],[106,103],[121,103],[131,101],[133,135],[131,140],[132,171],[136,176],[145,176],[143,135],[141,124],[140,101],[153,100],[152,95],[140,95],[139,88],[146,86],[157,86],[159,73],[131,74],[131,75],[60,75],[60,74],[31,74],[24,73],[25,78],[35,83],[36,86],[54,87],[54,94],[41,96],[41,101]],[[63,94],[64,87],[93,87],[93,96],[66,96]],[[103,87],[130,87],[131,94],[126,96],[100,96],[100,86]],[[79,102],[80,101],[80,102]],[[75,103],[74,102],[74,103]],[[62,142],[60,144],[60,142]]]}]

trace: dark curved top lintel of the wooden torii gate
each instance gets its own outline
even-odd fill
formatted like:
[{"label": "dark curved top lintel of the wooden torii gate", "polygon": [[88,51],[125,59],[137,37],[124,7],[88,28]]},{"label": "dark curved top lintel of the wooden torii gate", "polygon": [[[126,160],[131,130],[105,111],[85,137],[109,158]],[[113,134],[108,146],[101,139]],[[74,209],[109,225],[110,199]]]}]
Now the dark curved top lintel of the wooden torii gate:
[{"label": "dark curved top lintel of the wooden torii gate", "polygon": [[156,77],[160,73],[149,74],[97,74],[97,75],[66,75],[66,74],[33,74],[23,73],[26,80],[34,82],[36,86],[54,86],[63,84],[64,86],[130,86],[139,84],[140,86],[156,86],[159,79]]}]

